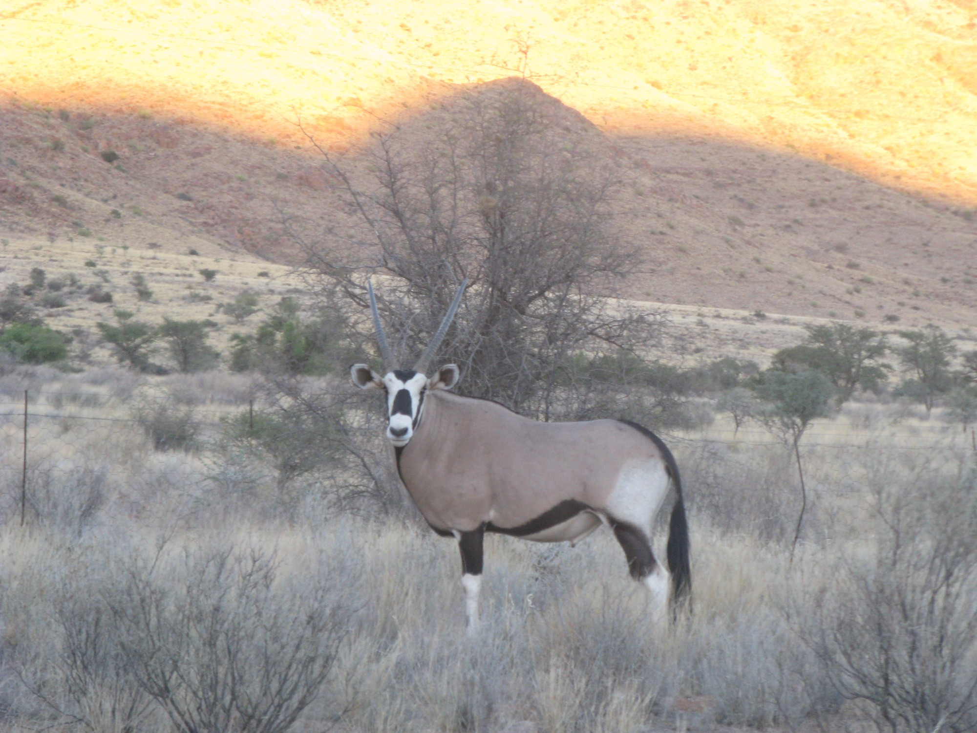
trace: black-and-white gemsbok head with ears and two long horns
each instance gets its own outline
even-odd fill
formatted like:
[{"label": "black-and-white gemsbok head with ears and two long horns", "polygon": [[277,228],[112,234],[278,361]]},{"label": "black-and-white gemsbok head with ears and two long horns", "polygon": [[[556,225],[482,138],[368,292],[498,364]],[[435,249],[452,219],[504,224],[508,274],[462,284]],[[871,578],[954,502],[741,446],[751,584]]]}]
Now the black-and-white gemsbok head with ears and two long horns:
[{"label": "black-and-white gemsbok head with ears and two long horns", "polygon": [[458,381],[459,369],[453,364],[438,369],[437,373],[431,378],[427,376],[427,368],[431,358],[445,338],[447,326],[451,324],[454,314],[461,303],[461,295],[465,291],[464,280],[454,294],[447,309],[445,319],[441,322],[438,332],[428,344],[427,349],[417,360],[417,363],[408,369],[397,367],[394,361],[393,352],[387,343],[387,337],[383,332],[383,324],[380,323],[380,313],[376,307],[376,297],[373,295],[372,283],[366,283],[369,292],[369,307],[373,314],[373,328],[376,330],[376,339],[380,345],[380,355],[383,357],[383,368],[386,372],[383,376],[376,373],[365,364],[355,364],[350,367],[353,376],[353,383],[361,389],[382,389],[387,395],[387,414],[390,418],[387,425],[387,438],[397,448],[407,445],[414,430],[417,428],[421,419],[421,410],[424,408],[424,395],[429,389],[451,389]]}]

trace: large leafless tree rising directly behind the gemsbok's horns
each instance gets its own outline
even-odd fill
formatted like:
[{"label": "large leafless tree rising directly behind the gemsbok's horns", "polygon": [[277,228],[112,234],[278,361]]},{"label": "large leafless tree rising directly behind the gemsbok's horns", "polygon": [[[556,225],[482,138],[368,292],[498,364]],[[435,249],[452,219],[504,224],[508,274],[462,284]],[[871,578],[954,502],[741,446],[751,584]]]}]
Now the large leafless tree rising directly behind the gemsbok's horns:
[{"label": "large leafless tree rising directly behind the gemsbok's horns", "polygon": [[[363,226],[355,248],[307,247],[312,272],[323,291],[338,288],[364,314],[361,271],[392,276],[378,300],[404,367],[467,278],[444,348],[465,372],[462,389],[533,416],[562,416],[558,402],[588,394],[564,389],[575,355],[644,350],[661,320],[602,297],[639,261],[609,226],[619,182],[603,139],[519,80],[462,93],[439,124],[426,143],[407,127],[376,134],[372,178],[322,150]],[[355,262],[351,251],[370,254]],[[354,326],[356,343],[373,343],[368,316]]]}]

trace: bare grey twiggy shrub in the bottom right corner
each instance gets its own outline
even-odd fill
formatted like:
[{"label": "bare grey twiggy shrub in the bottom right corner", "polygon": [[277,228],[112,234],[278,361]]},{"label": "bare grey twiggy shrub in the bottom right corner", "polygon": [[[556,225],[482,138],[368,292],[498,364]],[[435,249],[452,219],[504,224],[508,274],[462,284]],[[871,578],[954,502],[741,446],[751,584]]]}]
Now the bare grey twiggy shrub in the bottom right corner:
[{"label": "bare grey twiggy shrub in the bottom right corner", "polygon": [[915,478],[874,490],[864,547],[795,625],[879,731],[963,733],[977,729],[977,493],[973,477]]}]

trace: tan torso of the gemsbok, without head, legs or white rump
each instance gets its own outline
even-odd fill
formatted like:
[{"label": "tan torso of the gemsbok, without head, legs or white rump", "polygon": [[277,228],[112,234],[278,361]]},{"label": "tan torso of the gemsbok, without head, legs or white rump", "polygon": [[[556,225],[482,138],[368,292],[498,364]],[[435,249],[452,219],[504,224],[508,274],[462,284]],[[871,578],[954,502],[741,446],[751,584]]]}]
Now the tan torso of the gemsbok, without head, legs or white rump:
[{"label": "tan torso of the gemsbok, without head, legs or white rump", "polygon": [[527,537],[544,541],[594,529],[622,475],[641,466],[660,466],[666,480],[657,446],[616,420],[537,422],[444,390],[426,395],[399,461],[404,486],[436,530],[518,528],[567,499],[593,510]]}]

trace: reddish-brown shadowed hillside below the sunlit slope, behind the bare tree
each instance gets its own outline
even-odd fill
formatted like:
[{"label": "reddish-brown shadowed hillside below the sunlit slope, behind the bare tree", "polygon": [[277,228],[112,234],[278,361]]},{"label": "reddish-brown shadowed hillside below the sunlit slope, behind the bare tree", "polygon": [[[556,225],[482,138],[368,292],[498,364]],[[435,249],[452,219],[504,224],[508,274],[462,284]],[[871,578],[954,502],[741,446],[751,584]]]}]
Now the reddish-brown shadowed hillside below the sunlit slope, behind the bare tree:
[{"label": "reddish-brown shadowed hillside below the sunlit slope, behind the bare tree", "polygon": [[[519,88],[495,82],[466,94]],[[647,253],[620,294],[906,325],[977,323],[970,209],[796,153],[689,136],[609,137],[537,87],[525,89],[555,110],[555,145],[583,140],[619,176],[618,233]],[[457,113],[446,98],[405,114],[399,136],[423,151]],[[339,180],[308,141],[284,148],[149,114],[19,104],[0,114],[0,228],[11,237],[88,232],[179,251],[192,239],[213,252],[297,262],[286,223],[327,245],[345,241],[355,223]],[[366,145],[338,159],[368,177],[372,153]]]}]

